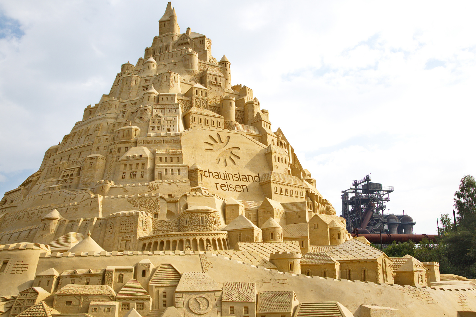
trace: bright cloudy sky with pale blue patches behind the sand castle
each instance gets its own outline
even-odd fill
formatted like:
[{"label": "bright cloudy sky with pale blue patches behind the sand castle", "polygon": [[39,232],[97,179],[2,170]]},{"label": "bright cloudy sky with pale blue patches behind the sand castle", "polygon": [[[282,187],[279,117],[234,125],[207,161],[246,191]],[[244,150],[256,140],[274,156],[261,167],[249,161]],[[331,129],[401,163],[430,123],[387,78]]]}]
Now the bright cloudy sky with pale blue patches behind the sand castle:
[{"label": "bright cloudy sky with pale blue patches behind the sand castle", "polygon": [[[167,1],[0,0],[0,191],[38,170],[84,108],[159,33]],[[370,174],[387,212],[436,233],[476,175],[474,1],[174,1],[182,32],[226,54],[317,189]],[[473,31],[471,31],[473,30]]]}]

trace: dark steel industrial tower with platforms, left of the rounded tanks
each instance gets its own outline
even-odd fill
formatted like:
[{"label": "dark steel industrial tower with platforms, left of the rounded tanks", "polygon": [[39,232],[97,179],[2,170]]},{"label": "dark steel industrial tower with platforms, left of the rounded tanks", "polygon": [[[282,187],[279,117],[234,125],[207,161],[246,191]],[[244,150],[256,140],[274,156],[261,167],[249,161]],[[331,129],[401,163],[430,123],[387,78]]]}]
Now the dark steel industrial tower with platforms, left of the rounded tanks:
[{"label": "dark steel industrial tower with platforms, left of the rounded tanks", "polygon": [[370,233],[380,233],[380,230],[386,232],[384,225],[387,224],[387,217],[384,216],[384,210],[387,206],[384,203],[390,201],[388,194],[393,192],[393,186],[371,183],[372,177],[369,175],[360,181],[355,180],[349,189],[341,191],[342,217],[346,219],[349,232],[356,228],[367,229]]}]

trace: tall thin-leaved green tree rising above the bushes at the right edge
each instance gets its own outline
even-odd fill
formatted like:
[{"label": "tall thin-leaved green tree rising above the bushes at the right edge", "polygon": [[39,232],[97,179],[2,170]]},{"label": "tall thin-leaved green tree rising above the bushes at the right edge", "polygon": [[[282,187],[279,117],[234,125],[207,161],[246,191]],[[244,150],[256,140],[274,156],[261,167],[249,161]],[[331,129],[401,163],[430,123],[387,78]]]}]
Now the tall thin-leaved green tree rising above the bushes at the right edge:
[{"label": "tall thin-leaved green tree rising above the bushes at the right edge", "polygon": [[465,175],[461,179],[453,199],[458,211],[458,225],[468,230],[476,227],[476,181],[473,176]]}]

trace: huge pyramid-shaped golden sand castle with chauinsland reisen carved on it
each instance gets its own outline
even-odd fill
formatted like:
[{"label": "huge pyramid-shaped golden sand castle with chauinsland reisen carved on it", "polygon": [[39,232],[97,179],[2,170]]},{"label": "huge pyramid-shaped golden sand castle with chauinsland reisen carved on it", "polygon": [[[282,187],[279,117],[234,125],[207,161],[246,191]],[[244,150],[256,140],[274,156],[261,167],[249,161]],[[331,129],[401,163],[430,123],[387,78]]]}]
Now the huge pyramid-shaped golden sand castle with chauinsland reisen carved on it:
[{"label": "huge pyramid-shaped golden sand castle with chauinsland reisen carved on it", "polygon": [[231,69],[169,3],[1,200],[0,316],[475,316],[476,285],[351,237]]}]

